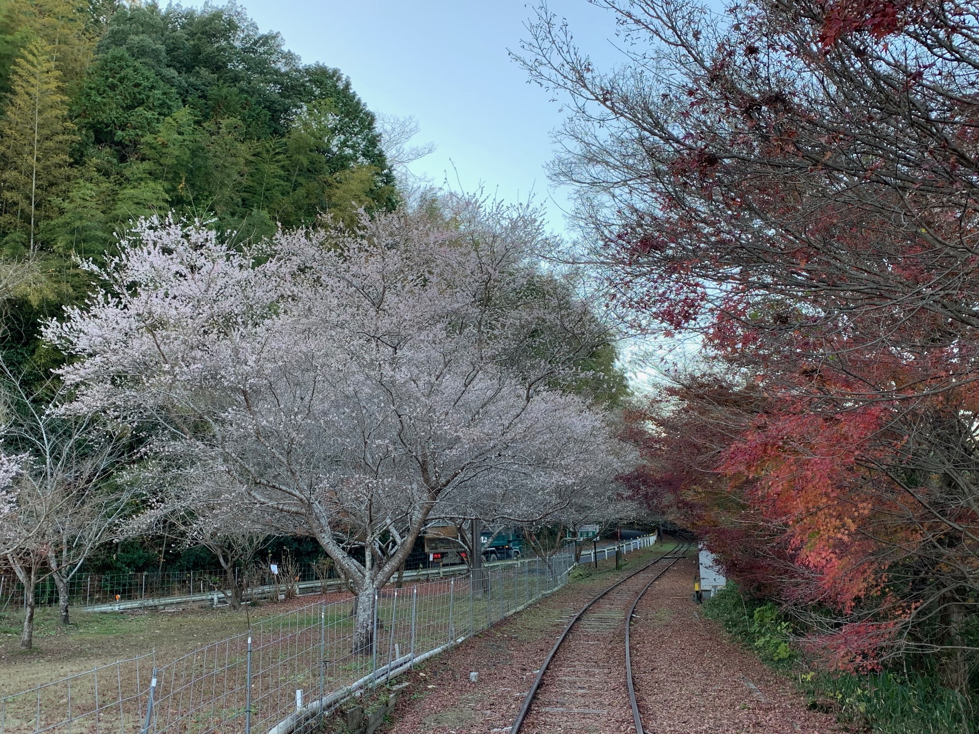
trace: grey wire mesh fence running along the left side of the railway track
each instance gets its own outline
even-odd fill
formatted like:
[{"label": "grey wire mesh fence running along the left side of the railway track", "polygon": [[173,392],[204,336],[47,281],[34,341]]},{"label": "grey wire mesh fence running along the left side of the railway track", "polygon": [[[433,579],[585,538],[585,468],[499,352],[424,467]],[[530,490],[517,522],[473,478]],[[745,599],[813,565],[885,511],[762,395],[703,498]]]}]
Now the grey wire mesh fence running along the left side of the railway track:
[{"label": "grey wire mesh fence running along the left side of the railway track", "polygon": [[[624,549],[653,542],[637,538]],[[560,588],[575,565],[573,553],[562,553],[385,587],[374,595],[366,645],[352,600],[310,604],[165,665],[151,654],[0,699],[0,734],[304,731],[354,691]]]}]

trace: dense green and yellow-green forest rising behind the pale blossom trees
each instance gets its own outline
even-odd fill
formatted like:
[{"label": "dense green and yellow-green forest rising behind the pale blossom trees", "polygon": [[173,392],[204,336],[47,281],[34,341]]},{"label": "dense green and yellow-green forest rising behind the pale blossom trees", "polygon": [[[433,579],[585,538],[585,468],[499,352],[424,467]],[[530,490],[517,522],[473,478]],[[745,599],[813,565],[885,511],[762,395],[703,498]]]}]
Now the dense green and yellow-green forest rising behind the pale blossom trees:
[{"label": "dense green and yellow-green forest rising behind the pale blossom trees", "polygon": [[306,65],[235,5],[0,2],[0,249],[33,277],[3,351],[57,360],[38,318],[88,289],[139,217],[211,222],[234,242],[396,206],[375,116],[341,70]]}]

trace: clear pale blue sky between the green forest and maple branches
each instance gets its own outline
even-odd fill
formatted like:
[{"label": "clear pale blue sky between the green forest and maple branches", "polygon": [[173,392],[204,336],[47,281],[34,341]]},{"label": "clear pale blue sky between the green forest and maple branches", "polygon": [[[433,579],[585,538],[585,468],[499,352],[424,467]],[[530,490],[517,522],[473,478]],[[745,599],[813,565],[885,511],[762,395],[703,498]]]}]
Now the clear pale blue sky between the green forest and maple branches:
[{"label": "clear pale blue sky between the green forest and maple branches", "polygon": [[[524,0],[241,0],[261,30],[282,33],[303,62],[322,62],[350,76],[368,107],[413,115],[417,142],[438,150],[412,164],[442,184],[484,185],[507,201],[532,190],[547,203],[549,224],[563,230],[567,199],[550,187],[544,165],[559,106],[510,61],[533,8]],[[609,14],[585,0],[555,0],[576,37],[600,64],[617,54],[607,40]],[[454,170],[453,170],[454,164]],[[549,201],[553,197],[555,202]]]}]

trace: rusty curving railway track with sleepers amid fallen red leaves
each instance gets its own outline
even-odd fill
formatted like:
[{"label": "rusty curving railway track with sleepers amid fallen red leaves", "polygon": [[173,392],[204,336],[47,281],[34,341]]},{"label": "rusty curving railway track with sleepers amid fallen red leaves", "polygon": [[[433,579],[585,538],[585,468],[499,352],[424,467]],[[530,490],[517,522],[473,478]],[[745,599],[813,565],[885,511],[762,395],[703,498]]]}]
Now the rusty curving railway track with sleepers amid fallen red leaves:
[{"label": "rusty curving railway track with sleepers amid fallen red leaves", "polygon": [[[616,723],[628,725],[629,708],[636,732],[644,734],[632,683],[629,621],[653,582],[683,558],[691,546],[686,543],[629,573],[592,598],[568,621],[540,665],[510,734],[518,734],[521,727],[534,734],[575,728],[583,732],[607,731]],[[620,637],[623,627],[624,640]],[[623,672],[625,693],[623,686],[610,685],[621,680]]]}]

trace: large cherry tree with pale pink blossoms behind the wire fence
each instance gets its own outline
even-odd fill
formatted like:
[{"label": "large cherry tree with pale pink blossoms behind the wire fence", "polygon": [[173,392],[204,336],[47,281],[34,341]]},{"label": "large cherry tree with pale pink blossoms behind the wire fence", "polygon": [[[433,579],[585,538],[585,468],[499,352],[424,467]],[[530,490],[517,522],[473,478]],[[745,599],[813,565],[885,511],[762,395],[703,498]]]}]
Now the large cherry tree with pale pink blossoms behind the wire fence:
[{"label": "large cherry tree with pale pink blossoms behind the wire fence", "polygon": [[441,504],[593,482],[616,453],[605,416],[562,390],[608,330],[583,301],[557,307],[533,212],[462,201],[239,250],[172,221],[134,237],[45,328],[75,358],[71,410],[315,537],[356,591],[357,651]]}]

